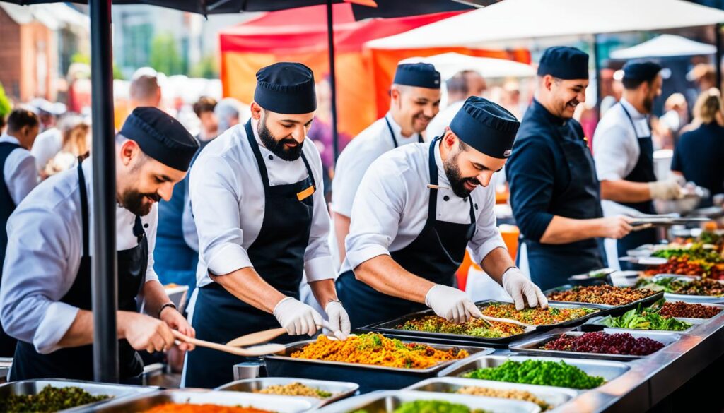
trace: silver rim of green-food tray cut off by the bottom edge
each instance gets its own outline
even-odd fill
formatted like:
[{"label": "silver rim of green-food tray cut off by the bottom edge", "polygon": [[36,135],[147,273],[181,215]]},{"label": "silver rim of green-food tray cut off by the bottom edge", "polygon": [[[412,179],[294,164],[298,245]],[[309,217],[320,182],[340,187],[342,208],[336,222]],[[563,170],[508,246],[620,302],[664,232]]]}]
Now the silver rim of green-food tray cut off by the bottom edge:
[{"label": "silver rim of green-food tray cut off by the bottom edge", "polygon": [[492,397],[463,394],[432,393],[424,391],[380,391],[330,404],[319,413],[348,413],[364,410],[369,413],[392,413],[405,401],[440,400],[464,404],[471,409],[484,409],[491,413],[538,413],[540,407],[529,401],[494,399]]}]

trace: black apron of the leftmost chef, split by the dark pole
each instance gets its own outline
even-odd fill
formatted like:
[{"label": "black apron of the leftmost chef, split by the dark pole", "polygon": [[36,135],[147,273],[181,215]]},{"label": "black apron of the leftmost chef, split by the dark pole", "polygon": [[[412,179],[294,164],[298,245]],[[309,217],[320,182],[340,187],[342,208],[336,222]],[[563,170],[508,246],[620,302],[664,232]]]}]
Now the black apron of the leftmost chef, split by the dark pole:
[{"label": "black apron of the leftmost chef, split by the dark pole", "polygon": [[[78,163],[80,184],[80,208],[83,219],[83,257],[70,290],[60,299],[81,310],[92,310],[90,289],[90,239],[88,228],[88,194],[85,190],[85,176],[82,164]],[[140,217],[135,217],[133,234],[138,245],[118,251],[118,310],[138,311],[135,298],[146,281],[148,266],[148,239]],[[143,362],[138,353],[125,339],[118,341],[119,376],[122,383],[140,384]],[[40,354],[35,346],[25,341],[17,342],[15,357],[9,380],[33,378],[65,378],[70,380],[93,380],[93,345],[59,349],[50,354]]]}]

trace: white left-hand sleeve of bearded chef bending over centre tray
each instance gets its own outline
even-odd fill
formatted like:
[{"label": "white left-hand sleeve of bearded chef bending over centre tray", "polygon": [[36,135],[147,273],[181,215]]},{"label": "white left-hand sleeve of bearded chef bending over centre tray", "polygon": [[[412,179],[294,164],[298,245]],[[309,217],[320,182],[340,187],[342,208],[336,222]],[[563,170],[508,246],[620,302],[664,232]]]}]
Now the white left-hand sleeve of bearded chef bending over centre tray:
[{"label": "white left-hand sleeve of bearded chef bending over centre tray", "polygon": [[[396,170],[397,169],[397,170]],[[355,197],[350,234],[345,239],[347,260],[353,270],[378,255],[390,255],[408,196],[399,166],[381,158],[370,166]]]}]

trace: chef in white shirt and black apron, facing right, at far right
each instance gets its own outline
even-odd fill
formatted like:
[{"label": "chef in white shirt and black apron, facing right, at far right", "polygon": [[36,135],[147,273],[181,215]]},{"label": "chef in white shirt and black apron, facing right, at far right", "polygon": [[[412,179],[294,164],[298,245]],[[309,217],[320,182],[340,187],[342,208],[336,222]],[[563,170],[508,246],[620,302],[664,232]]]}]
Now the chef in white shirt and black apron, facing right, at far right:
[{"label": "chef in white shirt and black apron, facing right, at far right", "polygon": [[[601,182],[601,197],[607,200],[604,202],[606,216],[656,213],[652,200],[674,200],[682,195],[676,179],[657,181],[654,174],[649,116],[654,99],[661,94],[661,69],[654,61],[626,63],[623,66],[623,96],[596,127],[594,159]],[[618,267],[618,257],[628,255],[628,250],[656,242],[654,229],[632,232],[618,242],[607,239],[608,263]]]}]

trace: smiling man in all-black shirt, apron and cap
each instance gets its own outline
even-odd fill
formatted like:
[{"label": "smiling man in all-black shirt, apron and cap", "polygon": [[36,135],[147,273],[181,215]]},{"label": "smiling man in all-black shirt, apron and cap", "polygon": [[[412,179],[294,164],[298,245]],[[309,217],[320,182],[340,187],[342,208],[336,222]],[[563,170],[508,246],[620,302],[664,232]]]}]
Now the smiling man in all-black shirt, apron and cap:
[{"label": "smiling man in all-black shirt, apron and cap", "polygon": [[621,238],[628,220],[602,218],[599,182],[581,124],[573,119],[586,100],[588,54],[548,48],[538,85],[506,166],[510,206],[521,229],[518,263],[543,289],[604,266],[601,237]]}]

